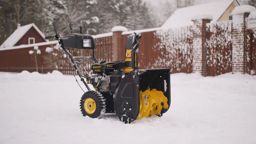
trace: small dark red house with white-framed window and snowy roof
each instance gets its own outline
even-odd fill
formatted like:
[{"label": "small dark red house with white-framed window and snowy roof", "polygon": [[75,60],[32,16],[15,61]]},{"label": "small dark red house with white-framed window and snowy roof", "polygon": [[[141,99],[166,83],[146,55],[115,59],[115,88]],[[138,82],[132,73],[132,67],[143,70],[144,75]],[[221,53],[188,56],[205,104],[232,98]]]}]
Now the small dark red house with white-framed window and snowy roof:
[{"label": "small dark red house with white-framed window and snowy roof", "polygon": [[8,37],[0,48],[14,47],[19,45],[29,45],[33,43],[46,42],[45,35],[35,24],[29,24],[18,28]]}]

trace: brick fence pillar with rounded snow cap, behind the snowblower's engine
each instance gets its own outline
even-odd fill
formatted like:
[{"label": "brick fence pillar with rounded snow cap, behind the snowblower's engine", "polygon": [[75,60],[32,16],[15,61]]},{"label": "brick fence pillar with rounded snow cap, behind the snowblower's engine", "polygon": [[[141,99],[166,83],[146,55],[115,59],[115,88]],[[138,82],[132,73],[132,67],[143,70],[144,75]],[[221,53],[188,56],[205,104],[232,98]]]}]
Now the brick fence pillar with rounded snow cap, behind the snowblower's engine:
[{"label": "brick fence pillar with rounded snow cap, behind the snowblower's engine", "polygon": [[112,61],[118,61],[121,57],[121,36],[123,31],[127,31],[126,27],[115,26],[111,29],[112,37]]}]

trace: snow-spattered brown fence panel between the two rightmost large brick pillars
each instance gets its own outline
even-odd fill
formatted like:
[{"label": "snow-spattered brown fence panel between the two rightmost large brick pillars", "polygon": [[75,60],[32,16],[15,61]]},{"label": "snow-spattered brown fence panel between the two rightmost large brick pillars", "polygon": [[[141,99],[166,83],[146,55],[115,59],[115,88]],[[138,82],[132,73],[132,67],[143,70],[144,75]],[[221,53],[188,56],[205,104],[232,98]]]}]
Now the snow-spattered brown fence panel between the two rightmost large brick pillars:
[{"label": "snow-spattered brown fence panel between the two rightmost large brick pillars", "polygon": [[206,48],[208,76],[232,71],[232,21],[206,24]]}]

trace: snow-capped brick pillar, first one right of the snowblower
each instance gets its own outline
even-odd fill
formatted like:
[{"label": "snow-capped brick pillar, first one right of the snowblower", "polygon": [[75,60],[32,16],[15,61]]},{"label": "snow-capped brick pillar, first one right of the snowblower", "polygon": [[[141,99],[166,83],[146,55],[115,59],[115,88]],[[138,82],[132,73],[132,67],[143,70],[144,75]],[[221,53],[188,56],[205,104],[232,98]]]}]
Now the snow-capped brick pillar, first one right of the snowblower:
[{"label": "snow-capped brick pillar, first one right of the snowblower", "polygon": [[193,21],[193,72],[206,76],[206,24],[212,20],[211,15],[199,15]]}]

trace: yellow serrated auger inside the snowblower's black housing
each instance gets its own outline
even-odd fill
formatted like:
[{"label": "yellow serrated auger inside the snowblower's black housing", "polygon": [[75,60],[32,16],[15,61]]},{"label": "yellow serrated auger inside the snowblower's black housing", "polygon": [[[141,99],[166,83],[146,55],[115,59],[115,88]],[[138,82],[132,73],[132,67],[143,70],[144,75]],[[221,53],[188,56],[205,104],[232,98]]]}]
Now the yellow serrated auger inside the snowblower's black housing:
[{"label": "yellow serrated auger inside the snowblower's black housing", "polygon": [[159,115],[162,107],[168,108],[167,101],[168,99],[162,91],[157,91],[156,89],[140,91],[140,112],[137,119]]}]

